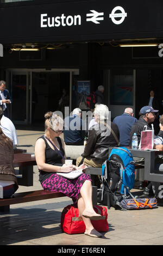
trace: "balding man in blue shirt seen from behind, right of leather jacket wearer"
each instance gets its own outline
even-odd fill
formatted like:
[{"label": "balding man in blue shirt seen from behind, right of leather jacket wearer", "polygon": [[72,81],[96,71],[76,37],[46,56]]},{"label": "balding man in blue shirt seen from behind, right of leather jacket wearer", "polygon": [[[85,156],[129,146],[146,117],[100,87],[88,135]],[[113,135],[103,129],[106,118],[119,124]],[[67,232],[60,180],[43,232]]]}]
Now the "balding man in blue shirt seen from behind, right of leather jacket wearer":
[{"label": "balding man in blue shirt seen from behind, right of leather jacket wearer", "polygon": [[113,120],[113,123],[118,126],[120,131],[120,143],[122,147],[129,146],[131,127],[137,121],[133,115],[133,108],[128,107],[124,110],[122,115],[118,115]]}]

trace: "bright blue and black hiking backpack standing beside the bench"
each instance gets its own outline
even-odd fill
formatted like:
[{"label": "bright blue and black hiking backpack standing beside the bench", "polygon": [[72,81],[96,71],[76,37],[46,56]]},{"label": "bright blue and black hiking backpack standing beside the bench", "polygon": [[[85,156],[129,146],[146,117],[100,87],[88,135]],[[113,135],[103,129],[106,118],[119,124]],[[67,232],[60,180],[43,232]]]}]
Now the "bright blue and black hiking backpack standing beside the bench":
[{"label": "bright blue and black hiking backpack standing beside the bench", "polygon": [[127,148],[112,148],[109,160],[102,165],[103,186],[98,190],[98,203],[122,209],[121,200],[130,194],[135,182],[135,162]]}]

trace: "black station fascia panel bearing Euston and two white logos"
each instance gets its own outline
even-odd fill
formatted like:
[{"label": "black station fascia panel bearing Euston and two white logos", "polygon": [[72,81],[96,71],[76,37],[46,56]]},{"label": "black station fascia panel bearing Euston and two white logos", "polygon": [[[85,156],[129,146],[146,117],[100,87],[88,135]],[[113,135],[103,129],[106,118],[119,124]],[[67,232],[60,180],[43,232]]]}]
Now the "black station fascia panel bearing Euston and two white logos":
[{"label": "black station fascia panel bearing Euston and two white logos", "polygon": [[1,44],[163,37],[160,0],[38,2],[0,4]]}]

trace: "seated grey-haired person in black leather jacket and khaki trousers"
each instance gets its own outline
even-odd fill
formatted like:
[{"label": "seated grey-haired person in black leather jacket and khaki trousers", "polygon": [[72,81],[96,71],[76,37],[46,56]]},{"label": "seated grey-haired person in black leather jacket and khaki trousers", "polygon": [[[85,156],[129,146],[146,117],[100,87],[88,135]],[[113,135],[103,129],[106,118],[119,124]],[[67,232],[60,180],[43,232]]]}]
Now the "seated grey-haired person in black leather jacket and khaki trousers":
[{"label": "seated grey-haired person in black leather jacket and khaki trousers", "polygon": [[[102,164],[109,157],[109,147],[117,147],[120,138],[118,126],[111,122],[111,129],[105,122],[109,120],[109,109],[103,104],[95,105],[95,121],[89,130],[89,136],[85,145],[84,153],[77,159],[77,166],[83,161],[86,166],[102,168]],[[95,185],[101,186],[97,175]],[[91,177],[92,178],[92,177]],[[93,182],[92,182],[93,183]]]}]

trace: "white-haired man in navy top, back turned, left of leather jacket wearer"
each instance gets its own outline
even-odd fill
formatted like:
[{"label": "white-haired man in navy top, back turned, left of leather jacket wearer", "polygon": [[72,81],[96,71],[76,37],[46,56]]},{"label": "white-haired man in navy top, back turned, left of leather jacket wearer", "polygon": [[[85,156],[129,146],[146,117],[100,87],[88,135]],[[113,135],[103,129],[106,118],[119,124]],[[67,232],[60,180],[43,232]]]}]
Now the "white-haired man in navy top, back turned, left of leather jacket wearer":
[{"label": "white-haired man in navy top, back turned, left of leather jacket wearer", "polygon": [[64,128],[64,142],[66,145],[83,145],[85,136],[85,126],[82,120],[82,110],[73,109],[72,116],[66,117]]}]

